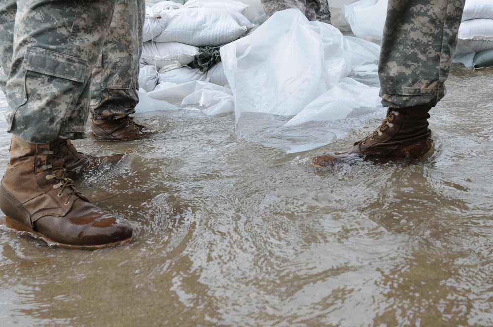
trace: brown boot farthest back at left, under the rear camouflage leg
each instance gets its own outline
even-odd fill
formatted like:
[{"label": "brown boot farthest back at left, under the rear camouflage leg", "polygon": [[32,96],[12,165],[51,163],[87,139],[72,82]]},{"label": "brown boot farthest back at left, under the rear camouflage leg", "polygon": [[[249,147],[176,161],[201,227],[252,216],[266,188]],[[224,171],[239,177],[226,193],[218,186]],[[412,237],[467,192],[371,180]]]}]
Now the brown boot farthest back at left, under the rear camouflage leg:
[{"label": "brown boot farthest back at left, under the rear camouflage leg", "polygon": [[96,139],[101,141],[125,141],[149,137],[156,131],[134,122],[132,117],[117,120],[92,120],[91,130]]}]

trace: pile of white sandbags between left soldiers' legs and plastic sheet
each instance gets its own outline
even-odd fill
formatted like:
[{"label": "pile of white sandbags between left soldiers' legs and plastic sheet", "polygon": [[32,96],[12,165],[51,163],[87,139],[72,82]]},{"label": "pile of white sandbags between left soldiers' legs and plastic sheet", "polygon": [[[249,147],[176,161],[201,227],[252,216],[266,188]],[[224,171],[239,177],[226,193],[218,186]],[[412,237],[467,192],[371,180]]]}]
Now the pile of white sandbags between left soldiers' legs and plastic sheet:
[{"label": "pile of white sandbags between left soldiers' legs and plastic sheet", "polygon": [[148,3],[143,26],[139,85],[146,92],[159,83],[203,80],[227,84],[220,62],[207,72],[190,68],[205,47],[219,47],[249,33],[255,25],[236,0],[189,0]]}]

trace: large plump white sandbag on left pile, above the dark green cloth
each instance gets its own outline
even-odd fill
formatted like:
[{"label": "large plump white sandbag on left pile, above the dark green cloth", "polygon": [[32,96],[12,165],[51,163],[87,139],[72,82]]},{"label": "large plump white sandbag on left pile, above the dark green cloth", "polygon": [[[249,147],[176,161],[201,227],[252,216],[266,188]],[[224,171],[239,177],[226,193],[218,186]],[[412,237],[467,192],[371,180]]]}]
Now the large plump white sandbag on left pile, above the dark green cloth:
[{"label": "large plump white sandbag on left pile, above the dark green cloth", "polygon": [[219,46],[245,35],[236,15],[212,8],[182,8],[163,11],[160,24],[163,32],[155,42],[181,42],[198,47]]}]

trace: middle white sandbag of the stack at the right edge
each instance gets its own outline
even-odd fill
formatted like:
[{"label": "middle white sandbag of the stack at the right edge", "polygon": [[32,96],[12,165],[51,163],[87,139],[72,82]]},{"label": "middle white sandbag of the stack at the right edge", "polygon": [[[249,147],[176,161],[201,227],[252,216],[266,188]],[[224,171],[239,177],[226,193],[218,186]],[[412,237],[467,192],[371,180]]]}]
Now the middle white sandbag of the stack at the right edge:
[{"label": "middle white sandbag of the stack at the right edge", "polygon": [[475,52],[493,49],[493,19],[464,21],[458,31],[458,46]]}]

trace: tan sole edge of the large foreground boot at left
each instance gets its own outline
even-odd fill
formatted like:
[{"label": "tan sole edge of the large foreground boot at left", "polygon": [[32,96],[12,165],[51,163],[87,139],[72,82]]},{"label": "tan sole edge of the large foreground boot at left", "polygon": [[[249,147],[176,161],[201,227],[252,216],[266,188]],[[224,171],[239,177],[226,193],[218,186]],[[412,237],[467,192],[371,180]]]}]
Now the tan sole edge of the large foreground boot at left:
[{"label": "tan sole edge of the large foreground boot at left", "polygon": [[67,249],[73,249],[73,250],[98,250],[98,249],[104,249],[104,248],[110,248],[118,245],[125,245],[130,243],[132,240],[132,237],[121,240],[118,242],[113,242],[113,243],[107,243],[107,244],[98,244],[98,245],[72,245],[72,244],[64,244],[64,243],[59,243],[56,242],[44,235],[39,234],[35,230],[29,228],[28,226],[21,224],[7,216],[4,216],[5,218],[5,226],[13,231],[15,231],[19,235],[28,235],[32,238],[35,238],[37,240],[42,241],[45,243],[48,247],[60,247],[60,248],[67,248]]}]

